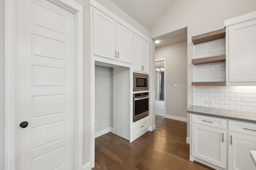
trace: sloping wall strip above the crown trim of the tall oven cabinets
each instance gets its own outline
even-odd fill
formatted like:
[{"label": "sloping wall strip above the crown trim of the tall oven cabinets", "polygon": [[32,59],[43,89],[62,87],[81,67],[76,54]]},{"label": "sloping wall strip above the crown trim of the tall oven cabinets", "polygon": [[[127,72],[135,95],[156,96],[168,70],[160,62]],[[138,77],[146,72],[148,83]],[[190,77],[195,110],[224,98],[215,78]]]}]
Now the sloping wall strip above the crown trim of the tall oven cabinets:
[{"label": "sloping wall strip above the crown trim of the tall oven cabinets", "polygon": [[138,23],[136,20],[134,20],[132,17],[130,17],[128,14],[126,14],[123,10],[121,10],[116,4],[114,4],[110,0],[96,0],[98,3],[100,3],[102,6],[110,10],[112,13],[116,14],[119,18],[126,21],[128,24],[132,25],[135,29],[149,37],[149,31],[144,28],[140,23]]}]

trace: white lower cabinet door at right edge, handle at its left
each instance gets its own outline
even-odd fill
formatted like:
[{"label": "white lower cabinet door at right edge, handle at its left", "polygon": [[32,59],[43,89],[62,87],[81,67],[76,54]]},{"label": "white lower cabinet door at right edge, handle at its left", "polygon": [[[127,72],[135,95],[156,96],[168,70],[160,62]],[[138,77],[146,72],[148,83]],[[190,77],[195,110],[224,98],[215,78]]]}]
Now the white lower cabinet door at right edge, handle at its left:
[{"label": "white lower cabinet door at right edge, handle at its left", "polygon": [[250,150],[256,150],[256,137],[235,132],[229,132],[228,136],[228,169],[256,170],[250,157]]}]

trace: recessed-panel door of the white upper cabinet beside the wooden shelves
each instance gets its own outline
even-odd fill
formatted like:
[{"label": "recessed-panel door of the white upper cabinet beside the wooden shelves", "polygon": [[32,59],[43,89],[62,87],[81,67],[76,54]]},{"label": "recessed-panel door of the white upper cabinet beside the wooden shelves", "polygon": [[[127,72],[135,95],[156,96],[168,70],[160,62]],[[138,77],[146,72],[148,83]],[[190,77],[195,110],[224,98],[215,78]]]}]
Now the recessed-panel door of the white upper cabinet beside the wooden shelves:
[{"label": "recessed-panel door of the white upper cabinet beside the wooden shelves", "polygon": [[256,82],[255,30],[256,19],[228,27],[229,82]]}]

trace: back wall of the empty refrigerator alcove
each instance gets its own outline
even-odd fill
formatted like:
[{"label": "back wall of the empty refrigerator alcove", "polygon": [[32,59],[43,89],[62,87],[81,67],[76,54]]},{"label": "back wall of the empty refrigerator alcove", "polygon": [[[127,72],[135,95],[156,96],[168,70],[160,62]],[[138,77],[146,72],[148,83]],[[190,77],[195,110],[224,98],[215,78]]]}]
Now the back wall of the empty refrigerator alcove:
[{"label": "back wall of the empty refrigerator alcove", "polygon": [[110,127],[111,117],[111,68],[95,65],[95,132]]}]

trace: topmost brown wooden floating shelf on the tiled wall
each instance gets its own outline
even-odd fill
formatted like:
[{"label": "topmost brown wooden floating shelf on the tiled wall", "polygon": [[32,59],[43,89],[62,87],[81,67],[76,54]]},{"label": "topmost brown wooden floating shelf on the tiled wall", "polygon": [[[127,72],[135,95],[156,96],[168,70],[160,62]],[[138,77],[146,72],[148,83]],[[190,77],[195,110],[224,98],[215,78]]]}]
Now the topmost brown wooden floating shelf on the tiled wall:
[{"label": "topmost brown wooden floating shelf on the tiled wall", "polygon": [[204,43],[207,41],[213,41],[216,39],[225,38],[225,35],[226,35],[226,28],[222,28],[216,31],[196,35],[192,37],[192,42],[195,45],[195,44]]}]

